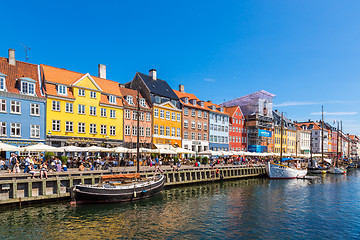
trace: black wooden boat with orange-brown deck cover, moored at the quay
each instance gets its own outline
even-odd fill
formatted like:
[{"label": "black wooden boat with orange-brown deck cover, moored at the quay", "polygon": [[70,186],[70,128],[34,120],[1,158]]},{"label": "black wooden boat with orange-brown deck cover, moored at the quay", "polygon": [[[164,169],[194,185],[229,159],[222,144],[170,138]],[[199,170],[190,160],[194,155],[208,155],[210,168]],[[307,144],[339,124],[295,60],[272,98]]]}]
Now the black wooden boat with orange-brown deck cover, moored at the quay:
[{"label": "black wooden boat with orange-brown deck cover, moored at the quay", "polygon": [[102,176],[95,185],[76,185],[71,191],[72,203],[127,202],[151,197],[164,187],[165,176],[140,179],[140,174]]}]

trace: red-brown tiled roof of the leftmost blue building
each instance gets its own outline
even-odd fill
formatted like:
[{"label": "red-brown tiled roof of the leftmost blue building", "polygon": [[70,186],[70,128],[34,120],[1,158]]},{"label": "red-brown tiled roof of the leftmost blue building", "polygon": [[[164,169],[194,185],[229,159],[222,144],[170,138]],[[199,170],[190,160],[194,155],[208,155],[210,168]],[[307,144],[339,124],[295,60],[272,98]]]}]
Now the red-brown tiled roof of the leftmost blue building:
[{"label": "red-brown tiled roof of the leftmost blue building", "polygon": [[29,78],[35,81],[35,93],[38,97],[42,96],[39,84],[38,65],[16,61],[15,65],[10,65],[7,58],[0,57],[0,73],[6,75],[6,90],[11,93],[20,94],[17,87],[17,79]]}]

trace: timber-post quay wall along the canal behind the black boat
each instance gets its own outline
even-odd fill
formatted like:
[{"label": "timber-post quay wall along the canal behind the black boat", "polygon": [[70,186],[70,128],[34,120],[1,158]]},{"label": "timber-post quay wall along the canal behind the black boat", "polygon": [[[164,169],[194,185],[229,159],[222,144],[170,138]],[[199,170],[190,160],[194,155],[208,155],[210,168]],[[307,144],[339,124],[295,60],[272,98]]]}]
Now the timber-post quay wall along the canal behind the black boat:
[{"label": "timber-post quay wall along the canal behind the black boat", "polygon": [[[217,171],[218,169],[218,171]],[[84,171],[49,173],[47,179],[31,179],[29,174],[4,174],[0,176],[0,205],[48,201],[69,198],[69,188],[78,184],[99,183],[102,175],[133,173],[133,171]],[[141,171],[141,176],[153,176],[153,170]],[[179,171],[165,170],[166,187],[185,184],[234,180],[265,175],[265,167],[219,166],[216,169],[191,168]]]}]

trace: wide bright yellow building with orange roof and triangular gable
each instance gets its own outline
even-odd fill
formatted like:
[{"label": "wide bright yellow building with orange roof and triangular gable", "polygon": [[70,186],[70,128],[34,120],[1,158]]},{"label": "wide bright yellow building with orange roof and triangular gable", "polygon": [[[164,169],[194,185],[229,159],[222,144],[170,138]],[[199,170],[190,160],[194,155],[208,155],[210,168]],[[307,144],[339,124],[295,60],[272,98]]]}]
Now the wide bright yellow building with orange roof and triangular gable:
[{"label": "wide bright yellow building with orange roof and triangular gable", "polygon": [[123,103],[117,82],[47,65],[41,65],[41,70],[48,144],[121,145]]}]

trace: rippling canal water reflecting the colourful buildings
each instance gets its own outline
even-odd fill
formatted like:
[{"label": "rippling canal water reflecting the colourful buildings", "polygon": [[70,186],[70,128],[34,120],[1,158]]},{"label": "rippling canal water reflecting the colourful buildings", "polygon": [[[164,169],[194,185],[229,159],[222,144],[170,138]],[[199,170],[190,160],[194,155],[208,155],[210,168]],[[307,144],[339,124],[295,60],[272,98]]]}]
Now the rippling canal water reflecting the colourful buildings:
[{"label": "rippling canal water reflecting the colourful buildings", "polygon": [[125,204],[7,207],[0,226],[1,239],[360,239],[360,170],[177,187]]}]

